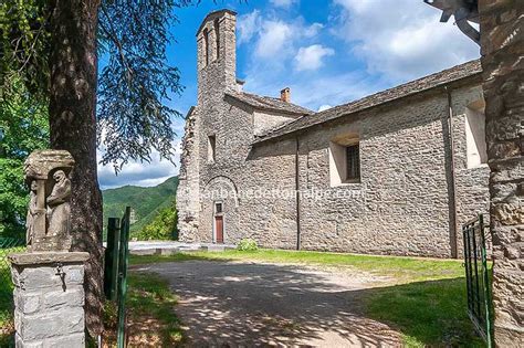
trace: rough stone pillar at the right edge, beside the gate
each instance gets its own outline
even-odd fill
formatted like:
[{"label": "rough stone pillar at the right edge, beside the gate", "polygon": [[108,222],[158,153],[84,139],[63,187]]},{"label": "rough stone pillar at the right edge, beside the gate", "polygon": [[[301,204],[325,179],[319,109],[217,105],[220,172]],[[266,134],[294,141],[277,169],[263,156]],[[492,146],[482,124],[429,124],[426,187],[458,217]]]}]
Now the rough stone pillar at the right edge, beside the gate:
[{"label": "rough stone pillar at the right edge, beside the gate", "polygon": [[494,334],[524,346],[524,1],[480,0],[485,130],[491,168]]}]

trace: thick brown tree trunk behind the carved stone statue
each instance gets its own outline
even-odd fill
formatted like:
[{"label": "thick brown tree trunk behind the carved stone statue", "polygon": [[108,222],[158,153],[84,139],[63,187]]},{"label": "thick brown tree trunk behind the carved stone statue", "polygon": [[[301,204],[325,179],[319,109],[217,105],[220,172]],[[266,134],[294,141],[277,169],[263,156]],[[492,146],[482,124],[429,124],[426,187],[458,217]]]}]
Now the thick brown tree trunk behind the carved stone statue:
[{"label": "thick brown tree trunk behind the carved stone statue", "polygon": [[99,0],[52,1],[51,147],[71,152],[73,251],[85,251],[85,318],[102,333],[102,194],[96,172],[96,31]]}]

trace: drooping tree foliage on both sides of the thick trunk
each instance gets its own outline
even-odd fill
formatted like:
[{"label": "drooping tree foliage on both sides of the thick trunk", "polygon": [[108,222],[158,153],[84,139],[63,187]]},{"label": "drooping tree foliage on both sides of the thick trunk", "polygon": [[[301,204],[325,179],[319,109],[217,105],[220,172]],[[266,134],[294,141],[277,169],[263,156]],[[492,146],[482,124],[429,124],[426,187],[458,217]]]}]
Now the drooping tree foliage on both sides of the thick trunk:
[{"label": "drooping tree foliage on both sides of the thick trunk", "polygon": [[[128,160],[150,160],[151,150],[174,155],[172,117],[167,106],[180,93],[180,74],[170,66],[166,48],[175,8],[192,0],[103,0],[98,10],[97,135],[102,162],[115,170]],[[50,19],[55,1],[4,0],[0,3],[0,88],[15,92],[21,81],[36,98],[50,88]]]}]

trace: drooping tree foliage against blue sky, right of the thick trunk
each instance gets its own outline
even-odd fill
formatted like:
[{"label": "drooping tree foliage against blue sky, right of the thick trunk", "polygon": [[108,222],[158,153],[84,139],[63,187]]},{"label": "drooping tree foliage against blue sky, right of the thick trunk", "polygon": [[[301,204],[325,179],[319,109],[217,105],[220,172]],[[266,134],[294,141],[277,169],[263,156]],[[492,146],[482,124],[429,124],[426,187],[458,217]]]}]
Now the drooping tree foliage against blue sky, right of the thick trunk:
[{"label": "drooping tree foliage against blue sky, right of the thick trunk", "polygon": [[106,1],[99,11],[99,55],[108,56],[98,88],[98,141],[106,149],[103,164],[149,160],[150,148],[170,158],[170,119],[180,116],[164,103],[169,91],[181,91],[178,68],[166,64],[167,29],[176,20],[172,7],[177,3],[124,3]]}]

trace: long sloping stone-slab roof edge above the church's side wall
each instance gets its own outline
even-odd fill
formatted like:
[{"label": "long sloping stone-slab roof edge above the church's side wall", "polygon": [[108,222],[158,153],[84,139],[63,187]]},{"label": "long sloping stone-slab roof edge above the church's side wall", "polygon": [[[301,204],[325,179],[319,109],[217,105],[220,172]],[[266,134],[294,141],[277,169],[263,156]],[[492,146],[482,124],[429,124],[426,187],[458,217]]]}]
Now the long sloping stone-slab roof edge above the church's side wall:
[{"label": "long sloping stone-slab roof edge above the church's side wall", "polygon": [[284,135],[289,135],[305,128],[313,127],[343,116],[355,114],[375,106],[379,106],[392,101],[397,101],[404,97],[412,96],[418,93],[443,86],[451,82],[455,82],[473,75],[480,75],[482,73],[482,66],[479,60],[471,61],[461,65],[453,66],[451,68],[441,71],[436,74],[418,78],[406,84],[392,87],[361,99],[357,99],[352,103],[343,104],[339,106],[332,107],[324,112],[319,112],[307,117],[300,117],[294,119],[280,128],[270,130],[269,133],[260,136],[254,144],[263,143],[270,139],[274,139]]}]

